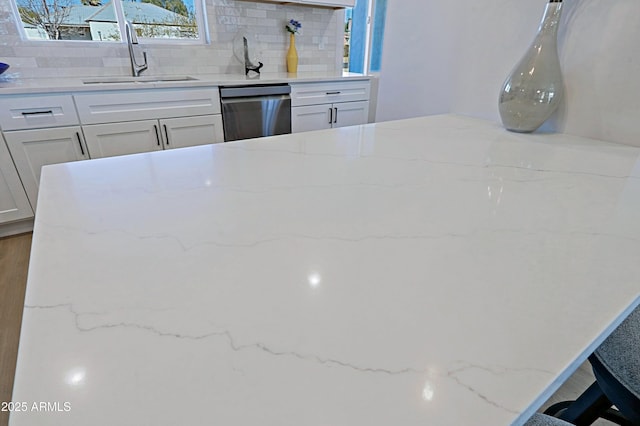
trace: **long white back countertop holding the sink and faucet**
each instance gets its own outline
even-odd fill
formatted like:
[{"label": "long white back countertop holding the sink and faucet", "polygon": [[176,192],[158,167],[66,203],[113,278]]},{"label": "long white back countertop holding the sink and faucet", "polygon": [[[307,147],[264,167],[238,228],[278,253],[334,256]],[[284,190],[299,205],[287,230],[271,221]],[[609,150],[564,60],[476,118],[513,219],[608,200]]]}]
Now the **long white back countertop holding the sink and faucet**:
[{"label": "long white back countertop holding the sink and faucet", "polygon": [[[176,77],[191,77],[193,80],[175,81]],[[103,84],[85,84],[85,81],[95,82],[110,79],[131,79],[137,82],[118,82]],[[166,81],[160,81],[167,79]],[[189,74],[184,76],[142,74],[140,78],[130,76],[103,76],[103,77],[69,77],[69,78],[33,78],[24,79],[18,76],[0,76],[0,96],[20,95],[33,93],[60,93],[60,92],[89,92],[103,90],[123,89],[153,89],[172,87],[203,87],[203,86],[237,86],[245,84],[277,84],[277,83],[309,83],[319,81],[343,81],[369,79],[368,76],[358,73],[324,73],[324,72],[300,72],[288,73],[262,73],[257,75],[243,74]]]}]

